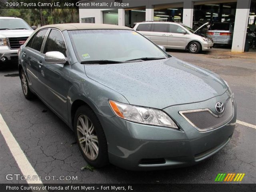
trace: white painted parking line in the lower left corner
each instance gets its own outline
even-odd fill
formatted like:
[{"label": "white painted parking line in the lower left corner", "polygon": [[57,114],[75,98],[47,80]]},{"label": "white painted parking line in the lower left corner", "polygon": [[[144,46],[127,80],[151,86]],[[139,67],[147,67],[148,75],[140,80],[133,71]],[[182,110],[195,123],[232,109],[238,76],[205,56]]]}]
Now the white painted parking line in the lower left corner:
[{"label": "white painted parking line in the lower left corner", "polygon": [[[22,149],[20,148],[18,142],[10,132],[10,129],[6,125],[2,115],[0,114],[0,131],[4,136],[7,146],[9,147],[12,156],[16,160],[22,174],[24,176],[36,176],[39,178],[34,168],[31,166],[30,162],[26,158],[25,154],[23,153]],[[18,182],[18,181],[17,181]],[[42,184],[40,180],[27,180],[28,184]]]}]

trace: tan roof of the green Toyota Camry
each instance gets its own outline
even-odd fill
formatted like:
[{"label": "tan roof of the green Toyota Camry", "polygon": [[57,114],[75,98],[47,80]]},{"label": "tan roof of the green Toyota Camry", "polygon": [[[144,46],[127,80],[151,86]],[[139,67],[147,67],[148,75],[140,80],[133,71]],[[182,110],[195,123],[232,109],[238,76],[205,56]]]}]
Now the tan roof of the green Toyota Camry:
[{"label": "tan roof of the green Toyota Camry", "polygon": [[67,23],[67,24],[54,24],[46,25],[38,28],[38,30],[44,28],[56,28],[60,31],[64,30],[88,30],[88,29],[120,29],[120,30],[133,30],[128,27],[109,25],[109,24],[94,24],[94,23]]}]

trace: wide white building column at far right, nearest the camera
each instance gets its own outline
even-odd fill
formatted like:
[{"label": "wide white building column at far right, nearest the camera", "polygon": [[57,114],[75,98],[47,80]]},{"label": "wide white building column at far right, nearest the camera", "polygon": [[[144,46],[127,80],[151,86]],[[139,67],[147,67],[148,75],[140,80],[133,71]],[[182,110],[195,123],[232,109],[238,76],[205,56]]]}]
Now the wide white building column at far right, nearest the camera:
[{"label": "wide white building column at far right, nearest the camera", "polygon": [[232,42],[232,52],[244,52],[251,0],[238,0]]}]

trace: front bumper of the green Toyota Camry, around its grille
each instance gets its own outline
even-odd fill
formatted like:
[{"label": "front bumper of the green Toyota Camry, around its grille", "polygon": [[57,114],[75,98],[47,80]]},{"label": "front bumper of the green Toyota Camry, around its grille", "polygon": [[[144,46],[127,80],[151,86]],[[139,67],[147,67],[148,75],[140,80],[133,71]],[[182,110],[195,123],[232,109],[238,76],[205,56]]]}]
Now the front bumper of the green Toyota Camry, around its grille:
[{"label": "front bumper of the green Toyota Camry, around its grille", "polygon": [[100,116],[108,141],[108,155],[112,164],[128,170],[158,170],[190,166],[222,149],[232,137],[236,124],[234,115],[225,125],[207,132],[199,132],[178,111],[201,108],[226,97],[225,93],[205,102],[172,106],[164,109],[180,127],[179,130],[149,126],[118,118]]}]

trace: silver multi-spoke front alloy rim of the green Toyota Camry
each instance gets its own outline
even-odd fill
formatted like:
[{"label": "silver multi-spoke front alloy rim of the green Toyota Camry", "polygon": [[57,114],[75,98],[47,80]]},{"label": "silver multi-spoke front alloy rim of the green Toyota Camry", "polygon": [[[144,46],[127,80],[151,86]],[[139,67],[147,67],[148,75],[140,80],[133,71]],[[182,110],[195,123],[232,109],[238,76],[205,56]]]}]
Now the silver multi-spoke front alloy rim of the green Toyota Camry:
[{"label": "silver multi-spoke front alloy rim of the green Toyota Camry", "polygon": [[77,119],[76,131],[84,154],[88,159],[95,160],[99,154],[99,142],[91,120],[85,115],[80,115]]}]

